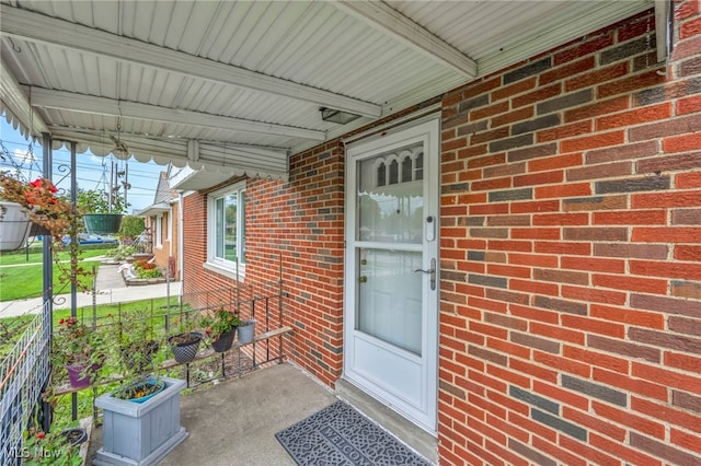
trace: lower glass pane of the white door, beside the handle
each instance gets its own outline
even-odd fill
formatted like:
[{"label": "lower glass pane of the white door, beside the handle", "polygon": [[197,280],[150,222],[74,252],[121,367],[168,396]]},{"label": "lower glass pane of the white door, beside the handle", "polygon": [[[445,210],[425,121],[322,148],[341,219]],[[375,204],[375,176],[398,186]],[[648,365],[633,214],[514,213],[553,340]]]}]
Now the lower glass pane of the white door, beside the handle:
[{"label": "lower glass pane of the white door, beside the handle", "polygon": [[421,356],[421,253],[358,248],[356,329]]}]

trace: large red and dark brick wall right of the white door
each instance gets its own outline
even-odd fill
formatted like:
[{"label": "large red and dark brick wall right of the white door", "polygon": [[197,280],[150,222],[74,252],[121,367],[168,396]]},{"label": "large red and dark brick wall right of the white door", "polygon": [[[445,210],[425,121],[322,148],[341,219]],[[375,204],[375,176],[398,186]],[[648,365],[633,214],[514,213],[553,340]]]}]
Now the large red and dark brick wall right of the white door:
[{"label": "large red and dark brick wall right of the white door", "polygon": [[[441,464],[701,464],[701,15],[444,98]],[[662,71],[662,75],[660,72]]]}]

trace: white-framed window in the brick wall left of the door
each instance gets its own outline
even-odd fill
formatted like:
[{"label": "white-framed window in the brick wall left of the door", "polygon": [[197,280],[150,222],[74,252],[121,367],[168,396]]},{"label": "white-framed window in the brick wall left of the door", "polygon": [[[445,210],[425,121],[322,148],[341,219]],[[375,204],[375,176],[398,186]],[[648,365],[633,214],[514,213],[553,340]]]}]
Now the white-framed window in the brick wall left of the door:
[{"label": "white-framed window in the brick wall left of the door", "polygon": [[209,195],[207,261],[230,271],[245,264],[245,183]]}]

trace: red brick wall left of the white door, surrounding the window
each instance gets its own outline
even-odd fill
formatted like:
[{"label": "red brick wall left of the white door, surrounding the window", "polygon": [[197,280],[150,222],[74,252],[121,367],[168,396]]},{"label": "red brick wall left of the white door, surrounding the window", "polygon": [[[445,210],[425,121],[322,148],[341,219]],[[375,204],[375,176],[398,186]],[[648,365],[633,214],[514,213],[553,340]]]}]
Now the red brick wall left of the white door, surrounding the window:
[{"label": "red brick wall left of the white door, surrounding the window", "polygon": [[[289,294],[283,324],[295,329],[286,352],[330,386],[342,370],[343,176],[343,148],[334,141],[294,155],[288,183],[246,185],[245,299],[277,292],[281,269]],[[206,193],[187,196],[184,206],[185,293],[222,289],[226,300],[235,281],[203,267]]]}]

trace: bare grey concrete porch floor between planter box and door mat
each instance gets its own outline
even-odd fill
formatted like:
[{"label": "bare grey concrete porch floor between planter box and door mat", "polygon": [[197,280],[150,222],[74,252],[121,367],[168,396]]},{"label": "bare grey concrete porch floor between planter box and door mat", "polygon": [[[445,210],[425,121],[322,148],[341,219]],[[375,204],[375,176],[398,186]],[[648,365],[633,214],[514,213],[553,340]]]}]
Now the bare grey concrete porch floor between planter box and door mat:
[{"label": "bare grey concrete porch floor between planter box and door mat", "polygon": [[[337,398],[298,368],[276,364],[241,378],[198,387],[181,396],[181,424],[189,436],[162,466],[295,465],[275,433]],[[94,430],[89,461],[102,445]]]}]

